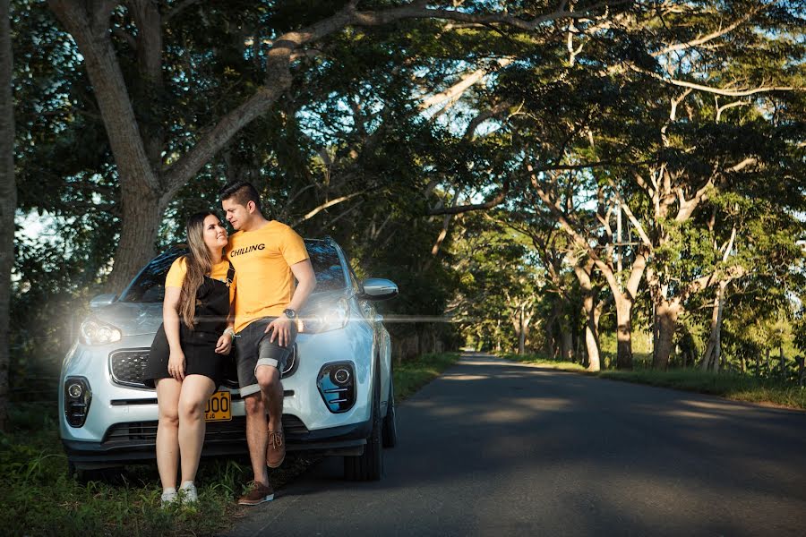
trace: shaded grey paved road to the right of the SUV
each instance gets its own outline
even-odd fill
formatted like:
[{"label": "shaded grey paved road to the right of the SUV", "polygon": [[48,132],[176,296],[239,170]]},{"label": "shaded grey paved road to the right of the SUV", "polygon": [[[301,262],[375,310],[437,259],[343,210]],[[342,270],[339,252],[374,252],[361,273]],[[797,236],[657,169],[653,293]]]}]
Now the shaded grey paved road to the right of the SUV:
[{"label": "shaded grey paved road to the right of the SUV", "polygon": [[233,535],[806,535],[806,413],[468,356]]}]

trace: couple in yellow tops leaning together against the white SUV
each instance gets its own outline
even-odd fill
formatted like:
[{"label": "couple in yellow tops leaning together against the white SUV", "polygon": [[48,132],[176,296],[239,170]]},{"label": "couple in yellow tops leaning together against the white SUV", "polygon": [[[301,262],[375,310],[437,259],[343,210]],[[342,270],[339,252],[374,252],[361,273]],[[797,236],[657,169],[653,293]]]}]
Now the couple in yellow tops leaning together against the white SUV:
[{"label": "couple in yellow tops leaning together against the white SUV", "polygon": [[267,465],[277,468],[286,456],[280,372],[296,339],[296,311],[316,286],[316,277],[302,237],[263,216],[251,183],[227,183],[219,195],[236,233],[227,240],[227,230],[212,212],[188,219],[189,251],[168,270],[163,323],[143,374],[146,385],[157,388],[163,506],[198,499],[193,480],[204,442],[204,407],[224,380],[234,337],[254,472],[238,503],[253,506],[274,499]]}]

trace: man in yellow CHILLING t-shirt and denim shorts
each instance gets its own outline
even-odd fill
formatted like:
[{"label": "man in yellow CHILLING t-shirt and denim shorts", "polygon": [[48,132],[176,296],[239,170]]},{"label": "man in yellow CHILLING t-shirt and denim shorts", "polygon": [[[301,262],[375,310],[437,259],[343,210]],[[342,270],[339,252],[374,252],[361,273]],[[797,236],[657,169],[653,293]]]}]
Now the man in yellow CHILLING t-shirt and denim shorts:
[{"label": "man in yellow CHILLING t-shirt and denim shorts", "polygon": [[302,237],[263,216],[260,195],[251,183],[227,183],[219,196],[227,220],[236,229],[226,253],[238,282],[238,384],[254,472],[249,490],[238,503],[254,506],[274,499],[267,465],[277,468],[286,456],[280,373],[296,339],[297,312],[316,286],[316,277]]}]

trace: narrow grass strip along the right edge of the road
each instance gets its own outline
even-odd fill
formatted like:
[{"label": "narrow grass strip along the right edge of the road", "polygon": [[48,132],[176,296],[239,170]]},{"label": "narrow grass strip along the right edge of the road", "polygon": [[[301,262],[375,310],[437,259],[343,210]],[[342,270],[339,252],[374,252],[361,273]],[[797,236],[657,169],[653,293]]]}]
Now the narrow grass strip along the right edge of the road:
[{"label": "narrow grass strip along the right edge of the road", "polygon": [[711,394],[732,399],[733,401],[806,410],[806,388],[768,379],[758,379],[750,375],[730,372],[712,373],[692,369],[655,371],[640,368],[633,371],[608,370],[591,373],[586,371],[579,363],[558,362],[536,354],[525,354],[523,356],[518,354],[499,354],[499,356],[540,367],[585,372],[603,379],[622,380],[700,394]]}]

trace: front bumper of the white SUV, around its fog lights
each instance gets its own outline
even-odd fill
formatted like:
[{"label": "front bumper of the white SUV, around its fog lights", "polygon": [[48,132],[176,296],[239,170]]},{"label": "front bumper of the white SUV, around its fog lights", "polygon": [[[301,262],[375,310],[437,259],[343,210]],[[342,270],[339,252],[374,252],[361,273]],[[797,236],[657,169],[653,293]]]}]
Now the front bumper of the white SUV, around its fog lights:
[{"label": "front bumper of the white SUV, around its fog lights", "polygon": [[[338,332],[318,335],[319,343],[313,347],[309,335],[298,338],[300,362],[296,371],[283,379],[288,451],[326,455],[360,455],[363,451],[372,430],[373,348],[371,334],[353,336]],[[91,391],[89,413],[81,427],[66,422],[64,393],[59,397],[61,438],[71,462],[124,464],[156,457],[158,409],[154,390],[117,385],[108,365],[111,352],[148,348],[151,339],[150,335],[126,337],[107,347],[77,344],[65,357],[61,391],[67,377],[87,379]],[[349,362],[355,370],[356,403],[347,412],[330,412],[316,388],[317,375],[329,362]],[[236,389],[227,389],[232,394],[232,421],[208,423],[202,456],[248,453],[244,400]]]}]

